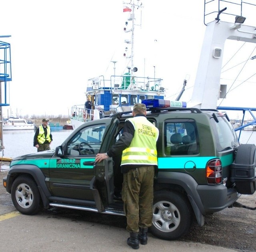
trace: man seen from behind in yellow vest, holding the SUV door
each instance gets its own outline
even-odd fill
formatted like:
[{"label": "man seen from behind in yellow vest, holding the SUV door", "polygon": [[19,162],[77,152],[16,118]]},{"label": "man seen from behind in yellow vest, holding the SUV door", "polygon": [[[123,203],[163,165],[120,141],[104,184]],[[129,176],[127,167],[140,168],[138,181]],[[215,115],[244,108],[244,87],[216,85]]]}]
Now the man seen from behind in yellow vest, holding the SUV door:
[{"label": "man seen from behind in yellow vest, holding the SUV door", "polygon": [[106,153],[98,153],[96,162],[122,154],[124,174],[122,200],[130,232],[127,244],[134,249],[147,244],[152,225],[154,167],[157,166],[158,129],[146,119],[146,106],[136,103],[133,118],[126,119],[122,136]]}]

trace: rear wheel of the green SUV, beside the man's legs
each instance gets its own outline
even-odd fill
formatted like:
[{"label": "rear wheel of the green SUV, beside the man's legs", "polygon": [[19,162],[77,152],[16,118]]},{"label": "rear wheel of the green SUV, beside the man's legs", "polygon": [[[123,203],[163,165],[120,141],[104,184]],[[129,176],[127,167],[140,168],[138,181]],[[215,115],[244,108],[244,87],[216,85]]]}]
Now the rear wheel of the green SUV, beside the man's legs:
[{"label": "rear wheel of the green SUV, beside the man's legs", "polygon": [[184,236],[191,224],[191,206],[182,194],[158,191],[154,194],[152,234],[164,240]]}]

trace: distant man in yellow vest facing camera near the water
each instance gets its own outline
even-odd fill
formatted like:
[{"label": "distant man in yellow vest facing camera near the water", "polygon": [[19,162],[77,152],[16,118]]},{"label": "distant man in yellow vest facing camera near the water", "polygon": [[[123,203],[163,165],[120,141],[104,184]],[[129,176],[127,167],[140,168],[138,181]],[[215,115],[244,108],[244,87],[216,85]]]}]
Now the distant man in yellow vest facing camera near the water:
[{"label": "distant man in yellow vest facing camera near the water", "polygon": [[37,151],[50,150],[50,144],[52,143],[52,133],[50,126],[47,125],[49,120],[42,119],[42,125],[36,129],[34,135],[34,146]]}]

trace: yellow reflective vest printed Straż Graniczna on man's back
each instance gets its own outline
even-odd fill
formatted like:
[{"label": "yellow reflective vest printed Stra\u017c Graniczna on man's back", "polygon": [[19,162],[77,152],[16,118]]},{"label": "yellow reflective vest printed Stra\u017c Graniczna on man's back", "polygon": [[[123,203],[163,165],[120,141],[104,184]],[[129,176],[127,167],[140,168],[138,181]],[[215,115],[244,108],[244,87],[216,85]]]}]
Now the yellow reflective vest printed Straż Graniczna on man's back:
[{"label": "yellow reflective vest printed Stra\u017c Graniczna on man's back", "polygon": [[127,119],[135,129],[129,147],[122,153],[121,165],[157,165],[158,129],[144,116]]}]

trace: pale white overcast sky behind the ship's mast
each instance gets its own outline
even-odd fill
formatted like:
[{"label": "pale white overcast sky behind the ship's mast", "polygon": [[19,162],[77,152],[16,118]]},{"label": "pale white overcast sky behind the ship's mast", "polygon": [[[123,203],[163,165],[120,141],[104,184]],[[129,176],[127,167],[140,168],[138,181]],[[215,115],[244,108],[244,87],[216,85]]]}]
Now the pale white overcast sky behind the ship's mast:
[{"label": "pale white overcast sky behind the ship's mast", "polygon": [[[141,2],[142,28],[136,27],[134,40],[137,75],[154,77],[155,70],[156,78],[164,80],[168,99],[176,98],[187,78],[184,99],[188,100],[205,31],[204,1]],[[123,12],[124,6],[122,0],[2,1],[0,35],[11,35],[1,40],[11,44],[12,57],[10,107],[3,108],[4,115],[9,109],[10,116],[10,108],[21,116],[68,115],[72,105],[84,104],[88,79],[114,74],[111,61],[117,61],[116,74],[123,74],[123,28],[129,14]],[[239,57],[237,62],[242,62]],[[253,64],[255,69],[256,60]],[[232,81],[234,76],[225,78]],[[245,87],[250,96],[244,91],[240,107],[256,107],[248,103],[254,99],[254,86],[255,79],[250,79]],[[241,90],[234,95],[241,95]]]}]

